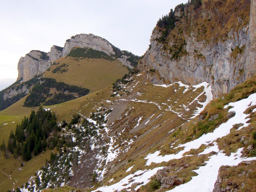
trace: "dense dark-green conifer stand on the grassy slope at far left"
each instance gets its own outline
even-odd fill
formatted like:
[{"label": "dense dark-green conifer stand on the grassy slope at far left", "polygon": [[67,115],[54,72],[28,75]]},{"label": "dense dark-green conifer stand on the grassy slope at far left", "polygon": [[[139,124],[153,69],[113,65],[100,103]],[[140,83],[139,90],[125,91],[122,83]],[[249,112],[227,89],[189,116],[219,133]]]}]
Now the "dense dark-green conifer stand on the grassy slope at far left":
[{"label": "dense dark-green conifer stand on the grassy slope at far left", "polygon": [[20,124],[16,125],[15,132],[11,131],[9,140],[0,146],[5,158],[10,158],[11,154],[17,159],[22,157],[24,161],[29,161],[33,155],[38,155],[46,149],[53,149],[57,146],[61,130],[57,126],[55,113],[44,110],[42,107],[35,113],[31,111],[29,118],[26,116]]}]

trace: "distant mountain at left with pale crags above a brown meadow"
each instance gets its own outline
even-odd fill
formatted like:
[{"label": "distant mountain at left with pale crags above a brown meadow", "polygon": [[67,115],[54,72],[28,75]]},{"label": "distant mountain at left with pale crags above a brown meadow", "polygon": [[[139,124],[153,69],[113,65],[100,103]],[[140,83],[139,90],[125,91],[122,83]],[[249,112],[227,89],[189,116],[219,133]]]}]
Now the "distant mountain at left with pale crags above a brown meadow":
[{"label": "distant mountain at left with pale crags above a brown meadow", "polygon": [[[84,58],[93,60],[83,62],[82,60]],[[100,61],[101,59],[103,60]],[[37,93],[35,93],[33,89],[35,90],[37,88],[34,87],[35,84],[45,82],[45,79],[41,79],[43,75],[72,86],[82,86],[84,89],[89,87],[92,91],[97,91],[105,88],[106,85],[111,85],[117,78],[125,74],[123,74],[123,72],[127,72],[127,69],[120,68],[121,66],[126,65],[128,68],[132,69],[138,64],[139,59],[139,56],[135,56],[127,51],[121,51],[110,44],[106,39],[93,34],[72,36],[71,39],[65,42],[64,48],[53,45],[49,53],[32,50],[19,60],[19,75],[17,81],[8,88],[0,91],[0,110],[19,101],[19,99],[31,93],[31,91],[32,93],[27,100],[34,97],[35,94],[38,97],[38,91],[42,91],[42,86],[40,88],[41,90],[38,90]],[[89,64],[91,62],[95,63],[97,67],[92,68],[92,65]],[[106,65],[106,63],[109,66]],[[81,66],[79,66],[80,64]],[[53,71],[51,71],[52,68],[54,68]],[[70,70],[68,71],[68,69]],[[77,76],[77,69],[81,72],[80,76]],[[45,72],[46,74],[44,74]],[[63,74],[64,72],[65,74]],[[84,72],[90,75],[84,75]],[[69,78],[67,78],[67,75]],[[97,78],[97,76],[100,76],[100,78]],[[90,81],[88,81],[88,78],[90,78]],[[91,81],[94,83],[91,83]],[[102,81],[104,81],[104,83],[102,83]],[[72,93],[72,91],[70,92],[68,89],[58,90],[59,88],[56,87],[57,84],[52,84],[51,86],[52,87],[48,87],[48,89],[51,89],[52,93],[45,93],[46,95],[41,99],[36,98],[30,101],[29,105],[25,104],[25,106],[31,107],[38,106],[40,103],[43,104],[49,97],[52,97],[52,95],[55,98],[50,99],[55,100],[55,102],[46,101],[47,105],[50,105],[50,103],[58,103],[56,98],[62,98],[59,102],[64,102],[84,95],[78,94],[78,88],[76,88],[76,92]],[[56,90],[56,88],[57,91],[53,91]],[[59,91],[61,91],[61,93],[59,93]],[[31,102],[33,105],[31,105]]]}]

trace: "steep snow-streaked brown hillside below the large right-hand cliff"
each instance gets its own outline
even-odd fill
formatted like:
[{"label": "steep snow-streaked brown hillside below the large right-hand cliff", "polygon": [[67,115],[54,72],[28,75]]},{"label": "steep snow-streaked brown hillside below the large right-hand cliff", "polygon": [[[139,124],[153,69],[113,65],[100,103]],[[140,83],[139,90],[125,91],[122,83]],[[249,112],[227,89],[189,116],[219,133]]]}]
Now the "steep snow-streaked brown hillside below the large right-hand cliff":
[{"label": "steep snow-streaked brown hillside below the large right-hand cliff", "polygon": [[[256,169],[242,162],[256,160],[256,78],[211,101],[207,83],[159,86],[146,77],[135,74],[117,81],[112,93],[70,101],[82,119],[73,125],[71,116],[65,117],[71,124],[61,133],[67,151],[63,146],[57,160],[46,163],[22,191],[66,184],[84,191],[93,185],[105,192],[212,191],[220,168],[216,190],[252,191]],[[49,106],[60,124],[65,105]],[[236,174],[230,177],[221,166],[243,168],[232,168]],[[240,177],[243,172],[247,177]],[[220,182],[223,178],[228,182]]]}]

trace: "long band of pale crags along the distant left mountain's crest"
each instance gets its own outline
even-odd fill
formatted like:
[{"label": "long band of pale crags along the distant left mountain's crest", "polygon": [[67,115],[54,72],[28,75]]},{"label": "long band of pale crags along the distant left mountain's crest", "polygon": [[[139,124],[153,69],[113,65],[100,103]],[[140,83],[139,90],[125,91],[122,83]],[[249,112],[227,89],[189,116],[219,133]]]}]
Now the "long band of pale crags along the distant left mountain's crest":
[{"label": "long band of pale crags along the distant left mountain's crest", "polygon": [[128,52],[121,52],[120,49],[110,44],[106,39],[93,34],[80,34],[67,39],[64,48],[53,45],[48,53],[32,50],[30,53],[26,54],[25,57],[21,57],[18,63],[17,81],[22,79],[23,82],[26,82],[34,76],[43,74],[55,60],[67,56],[67,54],[76,47],[91,48],[104,52],[118,59],[129,68],[133,68],[133,66],[136,65],[127,60],[131,57],[125,54]]}]

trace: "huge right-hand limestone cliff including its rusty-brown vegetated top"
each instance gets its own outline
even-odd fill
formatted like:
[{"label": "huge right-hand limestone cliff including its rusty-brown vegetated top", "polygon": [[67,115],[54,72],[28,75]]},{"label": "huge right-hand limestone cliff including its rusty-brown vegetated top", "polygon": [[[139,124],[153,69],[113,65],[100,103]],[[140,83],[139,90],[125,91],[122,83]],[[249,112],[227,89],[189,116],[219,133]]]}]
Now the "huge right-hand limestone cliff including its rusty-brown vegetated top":
[{"label": "huge right-hand limestone cliff including its rusty-brown vegetated top", "polygon": [[251,4],[251,11],[249,0],[177,6],[175,27],[155,27],[139,68],[152,83],[206,81],[215,97],[229,92],[255,74],[255,0]]}]

